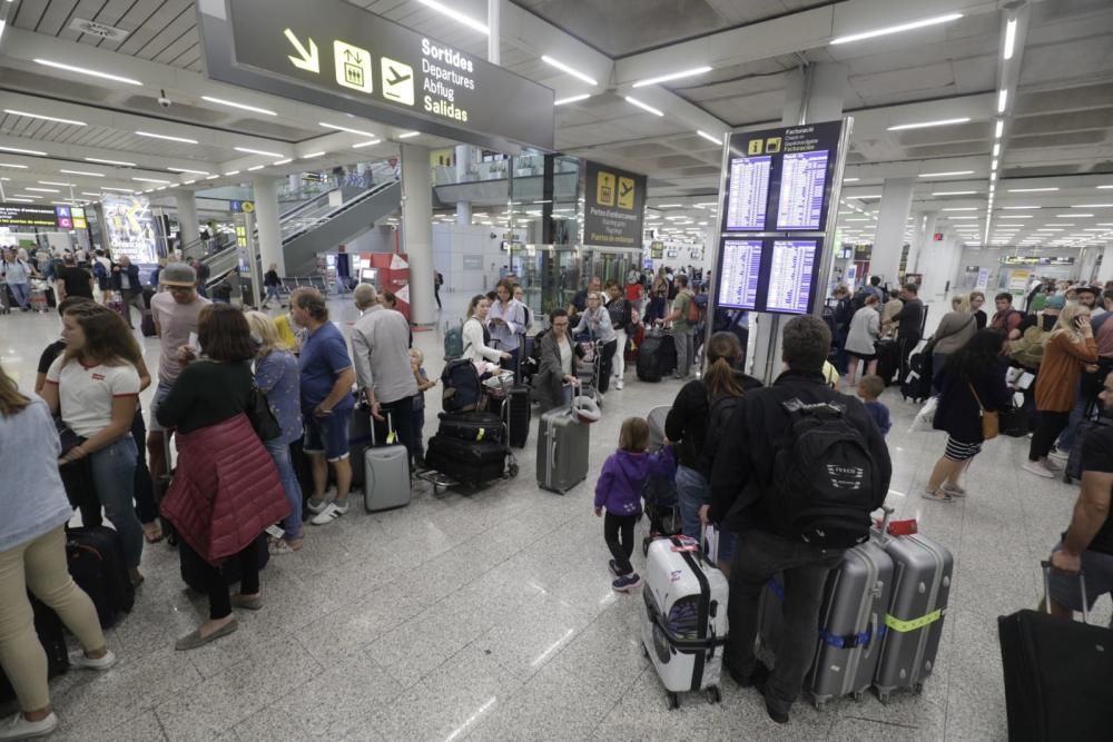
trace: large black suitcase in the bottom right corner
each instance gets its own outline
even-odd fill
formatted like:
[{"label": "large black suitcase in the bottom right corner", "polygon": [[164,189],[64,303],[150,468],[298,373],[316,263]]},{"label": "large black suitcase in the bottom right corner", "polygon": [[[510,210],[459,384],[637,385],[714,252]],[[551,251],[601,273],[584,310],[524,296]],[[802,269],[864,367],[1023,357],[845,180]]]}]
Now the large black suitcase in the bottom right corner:
[{"label": "large black suitcase in the bottom right corner", "polygon": [[[1048,562],[1043,563],[1050,601]],[[1113,631],[1041,611],[997,617],[1009,742],[1107,740],[1113,729]],[[1047,605],[1051,609],[1050,603]]]}]

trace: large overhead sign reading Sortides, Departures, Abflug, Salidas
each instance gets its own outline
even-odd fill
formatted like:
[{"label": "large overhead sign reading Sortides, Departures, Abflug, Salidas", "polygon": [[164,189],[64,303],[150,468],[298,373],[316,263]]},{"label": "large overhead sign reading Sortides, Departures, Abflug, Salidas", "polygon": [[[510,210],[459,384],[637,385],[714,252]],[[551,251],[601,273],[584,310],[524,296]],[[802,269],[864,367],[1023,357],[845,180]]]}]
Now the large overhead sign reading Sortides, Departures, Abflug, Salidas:
[{"label": "large overhead sign reading Sortides, Departures, Abflug, Salidas", "polygon": [[552,89],[351,2],[198,9],[213,79],[500,151],[553,149]]}]

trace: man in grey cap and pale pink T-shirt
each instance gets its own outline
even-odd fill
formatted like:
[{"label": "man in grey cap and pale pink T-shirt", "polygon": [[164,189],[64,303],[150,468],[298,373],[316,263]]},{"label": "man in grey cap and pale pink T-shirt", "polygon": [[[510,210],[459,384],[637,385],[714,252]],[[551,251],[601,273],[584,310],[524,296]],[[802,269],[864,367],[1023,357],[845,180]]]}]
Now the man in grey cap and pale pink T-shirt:
[{"label": "man in grey cap and pale pink T-shirt", "polygon": [[155,319],[155,335],[159,343],[158,387],[150,403],[150,422],[147,428],[150,475],[156,485],[166,461],[162,443],[165,434],[155,414],[174,388],[174,383],[181,373],[183,360],[191,355],[186,350],[189,335],[197,332],[197,317],[209,303],[197,295],[197,271],[188,264],[168,264],[159,274],[158,283],[164,290],[150,299],[150,314]]}]

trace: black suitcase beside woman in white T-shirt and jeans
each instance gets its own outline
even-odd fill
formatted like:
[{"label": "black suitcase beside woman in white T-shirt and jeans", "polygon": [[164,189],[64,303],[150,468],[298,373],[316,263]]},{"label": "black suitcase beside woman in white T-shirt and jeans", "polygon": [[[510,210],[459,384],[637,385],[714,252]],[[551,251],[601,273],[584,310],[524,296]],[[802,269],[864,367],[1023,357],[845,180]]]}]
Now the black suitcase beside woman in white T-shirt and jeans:
[{"label": "black suitcase beside woman in white T-shirt and jeans", "polygon": [[97,606],[100,625],[110,629],[130,613],[136,591],[124,561],[124,542],[107,526],[71,528],[66,534],[70,576]]}]

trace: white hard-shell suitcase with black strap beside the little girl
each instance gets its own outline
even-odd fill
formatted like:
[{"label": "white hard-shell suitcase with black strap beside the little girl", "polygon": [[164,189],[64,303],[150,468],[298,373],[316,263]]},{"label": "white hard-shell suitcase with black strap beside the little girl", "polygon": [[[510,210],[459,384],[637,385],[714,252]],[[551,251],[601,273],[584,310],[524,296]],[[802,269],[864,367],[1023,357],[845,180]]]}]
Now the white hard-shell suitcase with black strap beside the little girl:
[{"label": "white hard-shell suitcase with black strap beside the little girl", "polygon": [[718,702],[727,640],[727,578],[711,566],[691,538],[658,538],[646,558],[641,641],[668,692],[707,691]]}]

